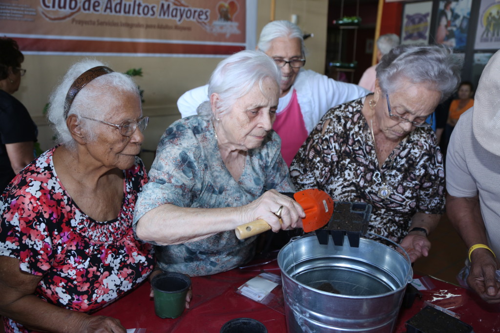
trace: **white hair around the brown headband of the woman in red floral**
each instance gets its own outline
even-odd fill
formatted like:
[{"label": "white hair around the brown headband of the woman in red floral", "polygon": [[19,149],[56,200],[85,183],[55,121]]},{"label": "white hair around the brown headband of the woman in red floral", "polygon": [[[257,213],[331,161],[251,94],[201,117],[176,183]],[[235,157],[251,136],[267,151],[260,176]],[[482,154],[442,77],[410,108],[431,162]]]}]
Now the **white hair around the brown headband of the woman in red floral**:
[{"label": "white hair around the brown headband of the woman in red floral", "polygon": [[[50,94],[47,118],[52,123],[52,128],[56,134],[57,144],[62,144],[68,149],[75,149],[76,147],[76,142],[66,126],[66,118],[64,117],[64,104],[69,87],[81,73],[90,68],[103,65],[105,64],[95,59],[83,59],[74,63],[68,69],[62,81]],[[83,87],[75,96],[68,111],[68,115],[77,115],[80,118],[79,121],[82,128],[87,131],[88,139],[96,140],[95,128],[97,122],[81,117],[102,119],[103,115],[109,112],[110,103],[106,101],[117,97],[109,94],[108,89],[113,88],[120,92],[136,93],[137,98],[140,98],[140,95],[137,85],[130,76],[122,73],[112,72],[101,75],[91,82],[93,83],[92,85]],[[95,87],[94,84],[97,84],[98,87]],[[107,98],[101,98],[106,94],[108,94]]]}]

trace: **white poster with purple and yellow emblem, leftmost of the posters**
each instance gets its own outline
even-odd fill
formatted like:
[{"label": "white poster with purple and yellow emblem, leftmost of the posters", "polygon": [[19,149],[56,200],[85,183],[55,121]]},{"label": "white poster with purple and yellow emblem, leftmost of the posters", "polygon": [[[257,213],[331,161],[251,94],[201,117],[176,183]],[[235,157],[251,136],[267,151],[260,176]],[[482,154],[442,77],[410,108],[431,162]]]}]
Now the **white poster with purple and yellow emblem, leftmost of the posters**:
[{"label": "white poster with purple and yellow emblem, leftmost of the posters", "polygon": [[427,44],[432,1],[405,3],[401,23],[401,44]]}]

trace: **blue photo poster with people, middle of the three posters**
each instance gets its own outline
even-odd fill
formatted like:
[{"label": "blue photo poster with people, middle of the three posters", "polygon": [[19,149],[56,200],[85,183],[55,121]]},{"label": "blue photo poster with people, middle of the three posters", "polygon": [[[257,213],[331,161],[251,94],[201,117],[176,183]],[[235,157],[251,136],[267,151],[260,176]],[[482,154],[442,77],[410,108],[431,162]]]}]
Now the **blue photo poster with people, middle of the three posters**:
[{"label": "blue photo poster with people, middle of the three posters", "polygon": [[435,42],[464,51],[472,0],[439,1]]}]

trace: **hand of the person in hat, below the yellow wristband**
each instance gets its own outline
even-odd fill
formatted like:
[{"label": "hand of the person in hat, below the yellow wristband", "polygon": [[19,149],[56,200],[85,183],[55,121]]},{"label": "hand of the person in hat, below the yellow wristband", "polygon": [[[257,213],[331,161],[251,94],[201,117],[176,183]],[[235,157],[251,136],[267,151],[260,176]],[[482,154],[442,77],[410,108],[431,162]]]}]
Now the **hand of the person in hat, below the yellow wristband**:
[{"label": "hand of the person in hat, below the yellow wristband", "polygon": [[495,280],[498,264],[486,249],[476,249],[470,255],[472,260],[467,284],[487,303],[500,303],[500,283]]}]

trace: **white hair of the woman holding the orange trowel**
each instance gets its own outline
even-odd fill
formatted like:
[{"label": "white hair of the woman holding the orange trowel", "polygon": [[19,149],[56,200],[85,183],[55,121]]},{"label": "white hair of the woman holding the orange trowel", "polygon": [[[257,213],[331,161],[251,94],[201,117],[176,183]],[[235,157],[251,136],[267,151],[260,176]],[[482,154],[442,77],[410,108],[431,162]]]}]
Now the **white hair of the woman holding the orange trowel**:
[{"label": "white hair of the woman holding the orange trowel", "polygon": [[[239,51],[220,61],[212,72],[208,81],[208,97],[213,93],[219,95],[219,103],[214,107],[218,115],[222,115],[255,84],[258,83],[262,91],[266,78],[275,81],[276,87],[279,87],[281,70],[276,63],[262,51]],[[204,118],[214,117],[209,101],[201,103],[197,112]]]}]

